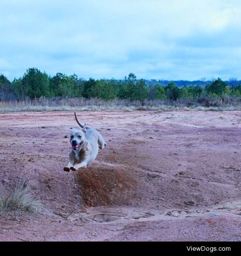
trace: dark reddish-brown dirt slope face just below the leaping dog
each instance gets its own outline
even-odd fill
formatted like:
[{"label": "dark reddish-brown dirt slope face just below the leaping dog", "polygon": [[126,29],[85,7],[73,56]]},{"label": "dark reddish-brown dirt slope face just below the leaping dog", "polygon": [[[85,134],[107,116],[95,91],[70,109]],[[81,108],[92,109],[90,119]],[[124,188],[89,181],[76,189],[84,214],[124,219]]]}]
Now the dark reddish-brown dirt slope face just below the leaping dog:
[{"label": "dark reddish-brown dirt slope face just below the leaping dog", "polygon": [[84,206],[128,205],[136,180],[131,171],[113,166],[90,166],[77,173]]}]

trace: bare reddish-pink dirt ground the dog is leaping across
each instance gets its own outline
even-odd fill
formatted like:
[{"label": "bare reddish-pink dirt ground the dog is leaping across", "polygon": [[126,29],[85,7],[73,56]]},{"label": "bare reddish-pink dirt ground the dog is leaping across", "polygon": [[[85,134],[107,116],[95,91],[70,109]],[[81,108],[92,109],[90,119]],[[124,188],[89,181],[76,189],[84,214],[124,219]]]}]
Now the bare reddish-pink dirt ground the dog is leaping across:
[{"label": "bare reddish-pink dirt ground the dog is leaping across", "polygon": [[78,112],[107,142],[64,172],[72,112],[0,114],[0,188],[45,210],[0,217],[0,241],[241,241],[241,112]]}]

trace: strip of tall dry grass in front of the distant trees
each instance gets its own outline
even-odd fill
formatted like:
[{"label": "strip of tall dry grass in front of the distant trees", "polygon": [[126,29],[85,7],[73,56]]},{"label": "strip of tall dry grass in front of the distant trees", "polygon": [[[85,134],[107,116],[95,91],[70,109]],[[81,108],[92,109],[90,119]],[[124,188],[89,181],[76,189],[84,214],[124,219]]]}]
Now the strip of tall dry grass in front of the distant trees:
[{"label": "strip of tall dry grass in front of the distant trees", "polygon": [[12,100],[0,101],[0,112],[19,112],[19,111],[70,111],[70,110],[241,110],[241,99],[229,97],[223,99],[200,98],[198,100],[98,100],[98,99],[84,99],[84,98],[45,98],[30,100]]}]

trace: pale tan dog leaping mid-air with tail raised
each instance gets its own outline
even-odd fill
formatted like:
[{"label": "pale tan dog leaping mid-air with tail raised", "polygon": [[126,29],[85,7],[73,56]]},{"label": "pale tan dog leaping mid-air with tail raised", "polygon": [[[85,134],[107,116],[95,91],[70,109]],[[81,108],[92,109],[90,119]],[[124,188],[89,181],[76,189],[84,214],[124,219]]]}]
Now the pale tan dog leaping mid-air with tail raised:
[{"label": "pale tan dog leaping mid-air with tail raised", "polygon": [[101,134],[85,125],[81,125],[77,119],[75,120],[81,129],[73,129],[70,134],[71,151],[69,154],[69,162],[64,171],[76,171],[79,168],[86,168],[87,165],[94,162],[98,155],[99,148],[104,149],[107,145]]}]

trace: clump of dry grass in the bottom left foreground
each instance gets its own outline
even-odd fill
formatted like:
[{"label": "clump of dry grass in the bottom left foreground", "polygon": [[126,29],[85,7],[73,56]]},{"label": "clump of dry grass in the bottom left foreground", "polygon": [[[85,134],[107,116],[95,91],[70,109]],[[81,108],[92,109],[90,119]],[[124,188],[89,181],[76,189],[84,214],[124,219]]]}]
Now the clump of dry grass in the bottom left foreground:
[{"label": "clump of dry grass in the bottom left foreground", "polygon": [[38,213],[43,205],[31,192],[31,186],[25,180],[19,181],[13,191],[0,198],[0,213]]}]

